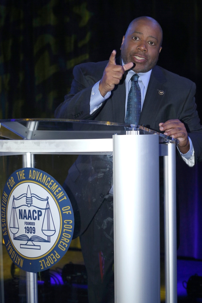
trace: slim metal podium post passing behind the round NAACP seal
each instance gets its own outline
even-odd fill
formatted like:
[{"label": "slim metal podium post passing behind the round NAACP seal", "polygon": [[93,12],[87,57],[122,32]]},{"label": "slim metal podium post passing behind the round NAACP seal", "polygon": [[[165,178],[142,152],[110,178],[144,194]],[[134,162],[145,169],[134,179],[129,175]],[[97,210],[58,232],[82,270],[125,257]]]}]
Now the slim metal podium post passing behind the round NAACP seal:
[{"label": "slim metal podium post passing behind the round NAACP seal", "polygon": [[[30,140],[37,122],[29,122],[27,139]],[[34,155],[27,152],[23,155],[23,167],[34,167]],[[37,273],[26,271],[27,303],[38,303]]]}]

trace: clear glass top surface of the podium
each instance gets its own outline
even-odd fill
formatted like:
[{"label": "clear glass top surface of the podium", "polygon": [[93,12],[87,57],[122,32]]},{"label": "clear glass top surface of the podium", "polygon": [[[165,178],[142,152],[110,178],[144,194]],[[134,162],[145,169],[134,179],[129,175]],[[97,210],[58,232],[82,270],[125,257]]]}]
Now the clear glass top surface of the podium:
[{"label": "clear glass top surface of the podium", "polygon": [[159,143],[178,144],[178,139],[166,136],[144,125],[124,123],[70,120],[70,119],[6,119],[0,120],[0,139],[12,140],[63,140],[103,139],[112,135],[126,135],[138,131],[139,135],[158,135]]}]

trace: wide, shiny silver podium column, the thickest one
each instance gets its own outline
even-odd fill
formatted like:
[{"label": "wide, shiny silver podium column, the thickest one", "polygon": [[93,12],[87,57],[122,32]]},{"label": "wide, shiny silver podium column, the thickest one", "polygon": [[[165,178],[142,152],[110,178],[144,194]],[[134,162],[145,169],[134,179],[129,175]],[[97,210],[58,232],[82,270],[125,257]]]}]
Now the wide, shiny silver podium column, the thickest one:
[{"label": "wide, shiny silver podium column, the thickest one", "polygon": [[115,303],[160,302],[158,141],[113,136]]}]

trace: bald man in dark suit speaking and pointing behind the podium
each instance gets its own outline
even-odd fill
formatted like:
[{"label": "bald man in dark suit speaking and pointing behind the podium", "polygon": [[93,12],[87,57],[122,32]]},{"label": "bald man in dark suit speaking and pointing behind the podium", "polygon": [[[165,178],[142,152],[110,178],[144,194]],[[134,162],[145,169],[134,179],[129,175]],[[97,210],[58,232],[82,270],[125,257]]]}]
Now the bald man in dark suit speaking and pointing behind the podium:
[{"label": "bald man in dark suit speaking and pointing behind the podium", "polygon": [[[84,63],[74,68],[71,91],[56,109],[55,116],[144,124],[178,138],[180,156],[189,166],[202,160],[202,130],[194,99],[195,84],[156,65],[161,42],[162,29],[156,20],[150,17],[134,19],[123,37],[121,58],[115,59],[114,50],[108,62]],[[99,160],[100,163],[108,161],[106,158]],[[70,168],[65,184],[80,212],[79,234],[82,235],[80,240],[88,271],[89,302],[113,302],[112,173],[104,175],[103,179],[107,181],[102,184],[102,198],[99,200],[95,193],[94,204],[91,201],[93,207],[85,207],[87,194],[80,201],[75,194],[77,192],[78,196],[78,187],[88,188],[86,180],[89,180],[92,168],[96,171],[99,167],[98,162],[98,159],[78,158]],[[95,191],[101,188],[98,182],[91,184],[92,187]],[[101,240],[94,245],[98,234]],[[99,262],[103,260],[105,269],[102,272]]]}]

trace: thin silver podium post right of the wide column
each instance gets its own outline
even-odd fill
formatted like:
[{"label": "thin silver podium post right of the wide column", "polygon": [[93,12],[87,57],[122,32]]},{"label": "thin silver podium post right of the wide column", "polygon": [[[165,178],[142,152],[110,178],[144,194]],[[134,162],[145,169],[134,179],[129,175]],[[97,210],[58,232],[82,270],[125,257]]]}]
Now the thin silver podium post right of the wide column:
[{"label": "thin silver podium post right of the wide column", "polygon": [[176,159],[175,144],[164,156],[164,231],[166,303],[177,303]]}]

